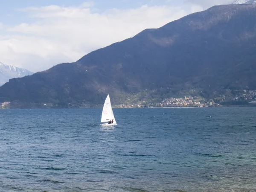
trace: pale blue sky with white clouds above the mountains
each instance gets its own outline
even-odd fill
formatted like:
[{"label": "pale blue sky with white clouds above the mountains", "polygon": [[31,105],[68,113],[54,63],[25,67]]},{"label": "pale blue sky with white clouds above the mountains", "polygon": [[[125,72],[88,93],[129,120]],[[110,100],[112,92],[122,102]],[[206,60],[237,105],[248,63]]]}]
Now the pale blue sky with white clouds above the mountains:
[{"label": "pale blue sky with white clouds above the mountains", "polygon": [[0,62],[32,72],[234,0],[0,0]]}]

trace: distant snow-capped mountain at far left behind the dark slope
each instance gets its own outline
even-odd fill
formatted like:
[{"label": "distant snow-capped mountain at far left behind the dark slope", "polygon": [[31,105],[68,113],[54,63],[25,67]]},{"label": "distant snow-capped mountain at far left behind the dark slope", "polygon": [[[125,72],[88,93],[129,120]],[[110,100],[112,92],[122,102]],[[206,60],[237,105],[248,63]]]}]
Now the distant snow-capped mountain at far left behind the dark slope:
[{"label": "distant snow-capped mountain at far left behind the dark slope", "polygon": [[7,65],[0,62],[0,86],[9,81],[9,79],[32,75],[29,70],[19,68],[13,65]]}]

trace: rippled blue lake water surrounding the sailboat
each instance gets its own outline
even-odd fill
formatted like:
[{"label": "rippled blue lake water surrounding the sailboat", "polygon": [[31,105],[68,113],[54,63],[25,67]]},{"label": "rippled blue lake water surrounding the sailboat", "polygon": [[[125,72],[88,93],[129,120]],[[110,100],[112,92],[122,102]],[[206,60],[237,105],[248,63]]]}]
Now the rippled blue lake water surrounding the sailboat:
[{"label": "rippled blue lake water surrounding the sailboat", "polygon": [[0,191],[256,191],[256,108],[101,112],[0,110]]}]

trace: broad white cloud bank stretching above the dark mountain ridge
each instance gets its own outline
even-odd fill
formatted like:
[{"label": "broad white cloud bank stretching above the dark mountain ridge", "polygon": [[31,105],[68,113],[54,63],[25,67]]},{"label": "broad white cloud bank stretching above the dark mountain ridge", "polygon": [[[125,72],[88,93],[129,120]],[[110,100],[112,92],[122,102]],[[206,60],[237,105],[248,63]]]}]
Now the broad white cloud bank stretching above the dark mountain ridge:
[{"label": "broad white cloud bank stretching above the dark mountain ridge", "polygon": [[4,35],[0,32],[0,60],[33,72],[46,70],[58,63],[77,61],[95,49],[130,38],[143,29],[158,28],[201,11],[200,6],[184,9],[144,5],[95,12],[93,5],[87,2],[80,6],[20,9],[34,21],[4,27]]}]

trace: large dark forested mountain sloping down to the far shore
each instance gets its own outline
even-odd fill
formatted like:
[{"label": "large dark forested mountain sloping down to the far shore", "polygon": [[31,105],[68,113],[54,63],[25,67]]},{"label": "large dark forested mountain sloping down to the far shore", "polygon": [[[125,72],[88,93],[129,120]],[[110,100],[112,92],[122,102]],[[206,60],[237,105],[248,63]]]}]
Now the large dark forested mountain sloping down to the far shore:
[{"label": "large dark forested mountain sloping down to the far shore", "polygon": [[103,104],[107,93],[118,104],[256,88],[255,18],[253,4],[213,6],[76,62],[11,79],[0,87],[0,102],[67,107]]}]

